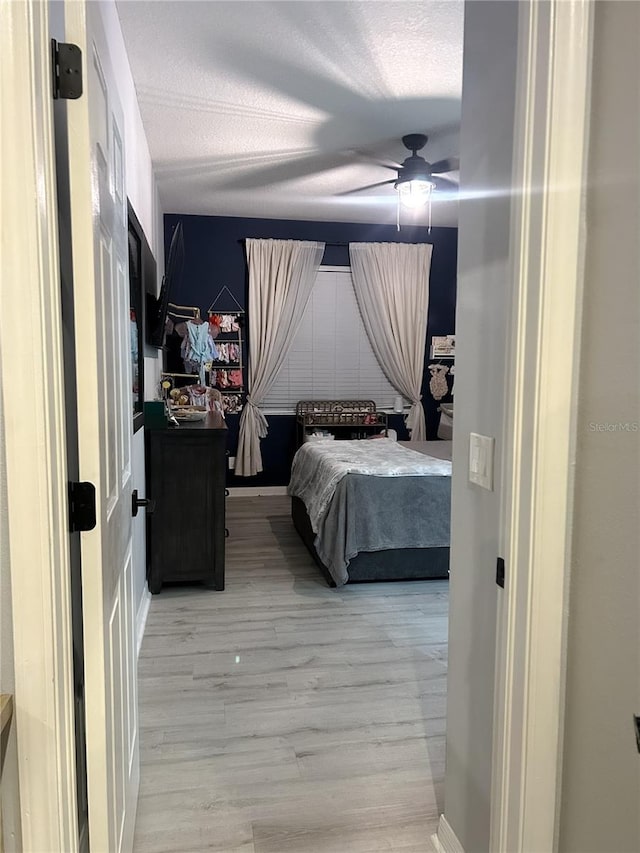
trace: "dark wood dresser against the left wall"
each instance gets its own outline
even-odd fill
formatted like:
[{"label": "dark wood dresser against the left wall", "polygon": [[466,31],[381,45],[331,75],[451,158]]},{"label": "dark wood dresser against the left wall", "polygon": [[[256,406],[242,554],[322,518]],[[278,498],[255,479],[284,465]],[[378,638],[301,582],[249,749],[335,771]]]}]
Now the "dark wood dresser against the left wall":
[{"label": "dark wood dresser against the left wall", "polygon": [[227,425],[206,420],[146,434],[147,579],[152,593],[166,581],[202,581],[224,589]]}]

